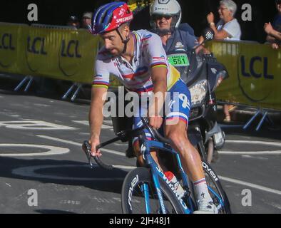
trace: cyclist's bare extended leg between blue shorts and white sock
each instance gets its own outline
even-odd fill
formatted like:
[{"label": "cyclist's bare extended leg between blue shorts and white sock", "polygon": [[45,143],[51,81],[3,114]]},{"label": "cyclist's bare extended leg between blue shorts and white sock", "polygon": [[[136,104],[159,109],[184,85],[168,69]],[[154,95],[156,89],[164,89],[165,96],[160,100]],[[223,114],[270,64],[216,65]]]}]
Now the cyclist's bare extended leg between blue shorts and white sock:
[{"label": "cyclist's bare extended leg between blue shorts and white sock", "polygon": [[172,140],[172,147],[179,152],[183,170],[193,182],[205,178],[199,152],[188,140],[186,124],[181,120],[178,120],[176,124],[167,125],[167,123],[171,122],[166,120],[165,137]]}]

